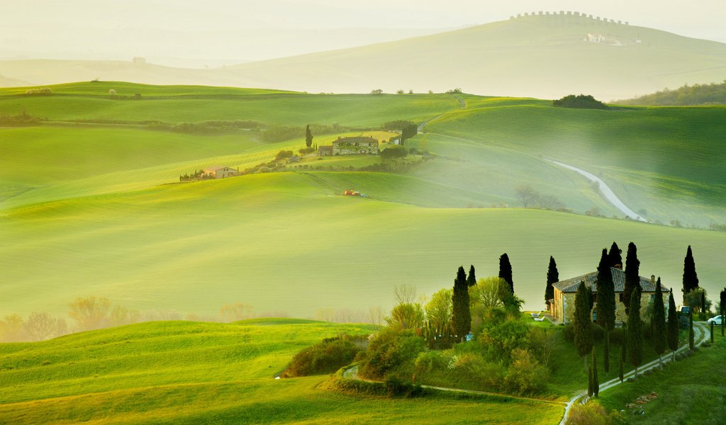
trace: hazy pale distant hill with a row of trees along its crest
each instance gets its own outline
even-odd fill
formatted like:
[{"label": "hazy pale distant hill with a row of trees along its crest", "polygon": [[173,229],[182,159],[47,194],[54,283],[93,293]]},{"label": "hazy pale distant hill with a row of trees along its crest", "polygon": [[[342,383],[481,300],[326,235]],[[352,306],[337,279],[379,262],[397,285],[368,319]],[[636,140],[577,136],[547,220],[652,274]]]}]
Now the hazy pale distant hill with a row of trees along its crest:
[{"label": "hazy pale distant hill with a row of trees along its crest", "polygon": [[626,99],[723,79],[726,44],[584,15],[529,15],[486,25],[213,70],[131,62],[5,61],[8,78],[33,84],[121,80],[368,93],[382,88],[558,99],[582,93]]}]

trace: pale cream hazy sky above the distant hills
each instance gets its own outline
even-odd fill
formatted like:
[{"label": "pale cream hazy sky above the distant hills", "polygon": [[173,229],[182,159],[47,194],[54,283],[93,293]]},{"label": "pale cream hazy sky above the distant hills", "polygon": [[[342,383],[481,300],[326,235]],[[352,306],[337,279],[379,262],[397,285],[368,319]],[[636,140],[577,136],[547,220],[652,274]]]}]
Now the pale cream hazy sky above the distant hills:
[{"label": "pale cream hazy sky above the distant hills", "polygon": [[0,59],[141,56],[232,65],[540,10],[586,12],[726,42],[723,0],[0,0],[0,6]]}]

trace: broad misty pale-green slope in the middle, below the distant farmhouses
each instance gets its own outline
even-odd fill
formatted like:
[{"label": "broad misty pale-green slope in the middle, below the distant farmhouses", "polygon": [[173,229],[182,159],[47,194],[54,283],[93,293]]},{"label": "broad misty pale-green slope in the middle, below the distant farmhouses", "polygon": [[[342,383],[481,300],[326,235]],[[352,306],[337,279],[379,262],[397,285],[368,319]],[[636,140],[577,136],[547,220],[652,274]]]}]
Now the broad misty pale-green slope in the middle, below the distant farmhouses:
[{"label": "broad misty pale-green slope in the middle, below the distant farmhouses", "polygon": [[[343,197],[330,186],[356,179],[356,189],[374,199]],[[517,293],[537,308],[549,255],[560,276],[578,276],[594,270],[596,253],[613,240],[635,241],[641,274],[669,286],[680,285],[688,244],[702,286],[713,292],[725,273],[725,234],[383,202],[401,200],[394,181],[403,200],[432,190],[415,178],[375,173],[274,173],[6,210],[0,236],[12,243],[0,247],[8,278],[0,308],[65,312],[74,297],[96,294],[190,313],[213,313],[230,300],[298,316],[328,306],[366,310],[389,305],[401,276],[431,294],[450,285],[460,264],[494,275],[502,252],[513,261]],[[29,288],[41,295],[28,297]]]}]

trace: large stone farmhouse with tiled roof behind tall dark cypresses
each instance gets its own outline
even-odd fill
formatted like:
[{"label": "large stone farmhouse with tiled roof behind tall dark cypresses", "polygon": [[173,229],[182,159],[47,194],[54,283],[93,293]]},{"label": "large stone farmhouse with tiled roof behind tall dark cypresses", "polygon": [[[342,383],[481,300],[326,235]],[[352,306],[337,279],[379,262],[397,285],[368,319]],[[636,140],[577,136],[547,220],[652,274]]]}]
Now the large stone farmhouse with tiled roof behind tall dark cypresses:
[{"label": "large stone farmhouse with tiled roof behind tall dark cypresses", "polygon": [[[620,268],[614,267],[611,268],[611,271],[613,273],[613,285],[615,286],[615,320],[626,321],[627,315],[625,315],[625,305],[623,303],[625,272]],[[651,276],[650,278],[639,277],[640,288],[643,289],[643,292],[640,294],[640,305],[641,308],[645,308],[648,302],[651,302],[656,297],[656,278],[655,276]],[[577,286],[579,286],[581,281],[584,281],[585,286],[592,290],[592,298],[595,302],[592,308],[592,320],[597,321],[597,271],[594,271],[583,276],[577,276],[576,278],[552,284],[555,288],[555,297],[550,300],[550,313],[552,313],[552,316],[558,323],[567,323],[574,318],[575,294],[577,292]],[[662,284],[661,291],[663,291],[664,305],[667,306],[670,291]]]}]

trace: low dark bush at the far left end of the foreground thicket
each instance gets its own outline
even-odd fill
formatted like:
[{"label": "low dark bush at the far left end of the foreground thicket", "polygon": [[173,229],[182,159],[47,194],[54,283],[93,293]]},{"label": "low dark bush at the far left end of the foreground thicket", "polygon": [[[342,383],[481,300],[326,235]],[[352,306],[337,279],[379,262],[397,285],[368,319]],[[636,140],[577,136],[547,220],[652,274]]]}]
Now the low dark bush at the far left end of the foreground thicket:
[{"label": "low dark bush at the far left end of the foreground thicket", "polygon": [[362,350],[367,337],[344,337],[323,339],[322,342],[298,352],[282,376],[309,376],[332,374],[339,368],[353,362]]}]

